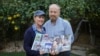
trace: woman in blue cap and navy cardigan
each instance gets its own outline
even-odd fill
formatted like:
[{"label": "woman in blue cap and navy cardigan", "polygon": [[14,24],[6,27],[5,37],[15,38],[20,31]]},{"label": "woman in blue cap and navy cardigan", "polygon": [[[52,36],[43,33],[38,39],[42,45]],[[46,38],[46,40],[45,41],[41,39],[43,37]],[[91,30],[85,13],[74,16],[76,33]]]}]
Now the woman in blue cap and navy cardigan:
[{"label": "woman in blue cap and navy cardigan", "polygon": [[24,50],[26,52],[26,56],[40,56],[44,54],[43,51],[31,50],[31,48],[36,33],[45,33],[45,28],[42,27],[45,20],[45,13],[42,10],[35,11],[33,19],[34,24],[31,27],[29,27],[24,34]]}]

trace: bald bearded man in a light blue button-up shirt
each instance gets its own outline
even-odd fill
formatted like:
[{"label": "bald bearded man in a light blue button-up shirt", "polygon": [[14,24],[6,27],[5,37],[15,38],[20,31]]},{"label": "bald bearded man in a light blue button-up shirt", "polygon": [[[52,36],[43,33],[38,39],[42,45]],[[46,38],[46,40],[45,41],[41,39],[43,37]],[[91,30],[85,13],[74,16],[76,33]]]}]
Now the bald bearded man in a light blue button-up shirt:
[{"label": "bald bearded man in a light blue button-up shirt", "polygon": [[[72,35],[71,43],[74,41],[74,36],[70,23],[60,17],[60,6],[57,4],[51,4],[49,6],[49,17],[44,27],[46,28],[46,33],[49,37],[55,37],[59,35]],[[60,53],[50,52],[51,56],[70,56],[70,50]]]}]

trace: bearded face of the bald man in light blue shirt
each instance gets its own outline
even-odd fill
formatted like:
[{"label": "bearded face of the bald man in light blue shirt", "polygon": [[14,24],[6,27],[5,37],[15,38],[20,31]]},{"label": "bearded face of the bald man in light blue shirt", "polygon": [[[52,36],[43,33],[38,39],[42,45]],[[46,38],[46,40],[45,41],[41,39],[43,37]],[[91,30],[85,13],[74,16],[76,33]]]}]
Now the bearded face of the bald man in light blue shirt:
[{"label": "bearded face of the bald man in light blue shirt", "polygon": [[59,17],[60,11],[58,8],[49,8],[49,17],[52,21],[55,21]]}]

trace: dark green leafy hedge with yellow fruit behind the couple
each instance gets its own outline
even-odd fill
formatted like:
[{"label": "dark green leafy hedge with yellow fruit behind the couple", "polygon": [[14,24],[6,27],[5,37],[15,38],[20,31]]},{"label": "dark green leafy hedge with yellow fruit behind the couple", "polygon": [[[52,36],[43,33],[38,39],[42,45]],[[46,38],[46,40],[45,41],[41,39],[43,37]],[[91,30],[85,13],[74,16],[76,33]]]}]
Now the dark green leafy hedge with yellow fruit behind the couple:
[{"label": "dark green leafy hedge with yellow fruit behind the couple", "polygon": [[[48,7],[52,3],[61,6],[61,17],[65,19],[89,19],[100,22],[99,0],[1,0],[0,40],[20,40],[32,24],[35,10],[44,10],[48,18]],[[48,20],[48,19],[47,19]]]}]

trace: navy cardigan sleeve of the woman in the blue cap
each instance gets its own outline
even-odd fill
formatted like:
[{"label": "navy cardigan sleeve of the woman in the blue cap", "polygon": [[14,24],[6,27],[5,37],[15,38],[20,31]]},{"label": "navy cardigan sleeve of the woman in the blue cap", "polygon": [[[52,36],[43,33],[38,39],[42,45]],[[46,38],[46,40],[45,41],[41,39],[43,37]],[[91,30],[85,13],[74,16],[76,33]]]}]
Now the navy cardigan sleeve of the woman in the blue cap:
[{"label": "navy cardigan sleeve of the woman in the blue cap", "polygon": [[39,55],[39,51],[31,50],[32,42],[33,42],[32,32],[27,30],[24,34],[24,50],[29,55]]}]

